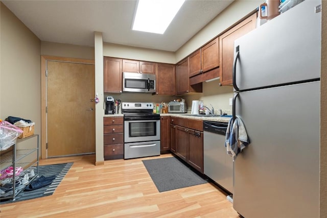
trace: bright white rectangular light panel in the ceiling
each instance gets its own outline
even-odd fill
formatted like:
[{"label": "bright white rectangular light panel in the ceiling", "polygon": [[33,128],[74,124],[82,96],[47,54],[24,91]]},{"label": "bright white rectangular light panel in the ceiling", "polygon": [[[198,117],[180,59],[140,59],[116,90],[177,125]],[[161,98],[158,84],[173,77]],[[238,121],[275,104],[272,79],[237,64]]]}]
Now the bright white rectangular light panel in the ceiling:
[{"label": "bright white rectangular light panel in the ceiling", "polygon": [[185,0],[139,0],[133,30],[164,34]]}]

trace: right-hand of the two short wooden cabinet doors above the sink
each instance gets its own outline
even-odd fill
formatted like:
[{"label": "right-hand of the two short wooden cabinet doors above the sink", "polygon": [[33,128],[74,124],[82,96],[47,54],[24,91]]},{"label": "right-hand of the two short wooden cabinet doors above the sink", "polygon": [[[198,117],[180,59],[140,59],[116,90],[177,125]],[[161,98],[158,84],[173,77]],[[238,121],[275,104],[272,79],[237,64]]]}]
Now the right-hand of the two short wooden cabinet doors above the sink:
[{"label": "right-hand of the two short wooden cabinet doors above the sink", "polygon": [[219,66],[219,41],[218,37],[201,48],[202,72]]}]

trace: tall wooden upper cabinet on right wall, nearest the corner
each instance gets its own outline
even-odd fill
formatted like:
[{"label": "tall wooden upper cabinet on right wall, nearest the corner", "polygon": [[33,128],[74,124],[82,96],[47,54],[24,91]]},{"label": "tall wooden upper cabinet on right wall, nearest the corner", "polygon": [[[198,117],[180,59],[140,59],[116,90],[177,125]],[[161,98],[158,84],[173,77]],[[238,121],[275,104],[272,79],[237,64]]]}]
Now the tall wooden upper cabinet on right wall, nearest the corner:
[{"label": "tall wooden upper cabinet on right wall, nearest the corner", "polygon": [[202,83],[190,85],[189,58],[185,58],[176,64],[176,94],[191,92],[202,92]]}]

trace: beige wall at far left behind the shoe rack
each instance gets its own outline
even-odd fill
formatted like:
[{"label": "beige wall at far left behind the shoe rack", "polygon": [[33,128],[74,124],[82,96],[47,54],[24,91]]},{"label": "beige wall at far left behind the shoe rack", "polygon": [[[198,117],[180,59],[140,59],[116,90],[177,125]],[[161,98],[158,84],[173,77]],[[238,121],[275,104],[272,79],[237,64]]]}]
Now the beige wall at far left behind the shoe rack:
[{"label": "beige wall at far left behind the shoe rack", "polygon": [[[41,131],[40,40],[1,3],[0,118],[17,116]],[[36,138],[17,145],[35,148]],[[30,157],[36,159],[35,157]]]}]

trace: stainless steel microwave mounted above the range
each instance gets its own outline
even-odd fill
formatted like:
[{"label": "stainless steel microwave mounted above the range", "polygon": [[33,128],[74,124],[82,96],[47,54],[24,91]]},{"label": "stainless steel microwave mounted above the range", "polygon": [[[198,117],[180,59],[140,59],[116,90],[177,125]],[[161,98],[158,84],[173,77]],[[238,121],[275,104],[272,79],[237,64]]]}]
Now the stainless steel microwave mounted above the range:
[{"label": "stainless steel microwave mounted above the range", "polygon": [[154,74],[123,72],[123,91],[153,93],[156,91],[155,78]]}]

